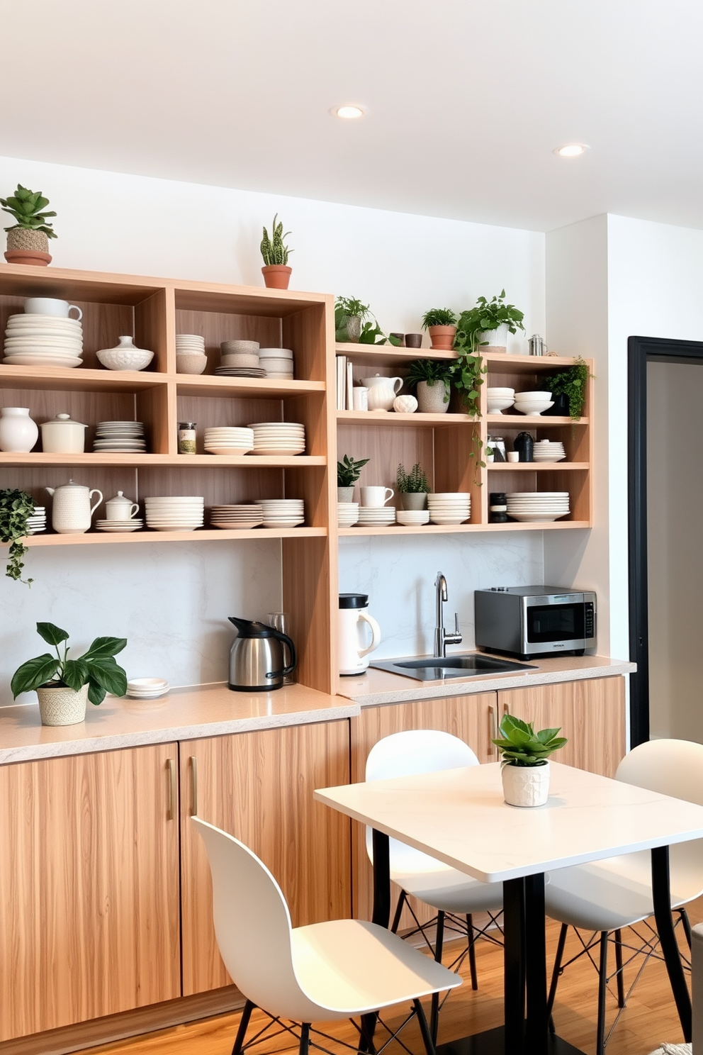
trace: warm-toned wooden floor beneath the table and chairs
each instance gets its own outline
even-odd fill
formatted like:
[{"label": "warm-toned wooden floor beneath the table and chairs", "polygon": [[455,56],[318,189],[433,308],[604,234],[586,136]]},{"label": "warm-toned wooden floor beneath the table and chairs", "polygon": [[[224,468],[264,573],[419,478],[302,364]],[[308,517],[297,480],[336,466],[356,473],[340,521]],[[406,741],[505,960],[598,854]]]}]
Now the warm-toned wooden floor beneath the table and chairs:
[{"label": "warm-toned wooden floor beneath the table and chairs", "polygon": [[[692,902],[689,906],[691,923],[703,922],[703,899]],[[551,965],[559,937],[559,925],[547,923],[547,964]],[[634,936],[623,932],[624,941]],[[680,944],[684,947],[683,938]],[[445,962],[455,955],[457,943],[446,946]],[[567,942],[565,960],[578,951],[578,944],[570,934]],[[614,966],[613,957],[609,971]],[[447,1000],[440,1019],[438,1042],[452,1040],[456,1037],[481,1030],[491,1029],[503,1021],[503,950],[481,942],[477,946],[476,960],[479,967],[479,992],[471,991],[468,980],[468,962],[465,962],[462,975],[467,981],[458,990],[454,990]],[[627,957],[625,956],[625,961]],[[632,963],[625,972],[626,985],[630,983],[638,966]],[[565,1040],[581,1048],[587,1055],[594,1052],[595,1012],[598,1000],[598,976],[586,957],[568,967],[559,986],[554,1005],[554,1022],[556,1032]],[[387,1022],[397,1025],[405,1017],[404,1009],[393,1009],[396,1013],[387,1013]],[[614,999],[609,999],[607,1029],[614,1018],[617,1005]],[[252,1016],[252,1028],[260,1028],[263,1016],[258,1013]],[[92,1048],[85,1055],[103,1055],[106,1052],[120,1055],[229,1055],[234,1042],[239,1015],[223,1015],[209,1018],[189,1025],[179,1025],[171,1030],[161,1030],[136,1039]],[[334,1022],[328,1027],[316,1023],[331,1036],[347,1042],[355,1042],[355,1034],[348,1022]],[[378,1035],[378,1039],[380,1036]],[[414,1022],[411,1022],[403,1033],[403,1039],[412,1052],[423,1051],[419,1034]],[[634,994],[630,997],[612,1037],[607,1047],[607,1055],[648,1055],[662,1041],[680,1043],[683,1040],[678,1022],[671,992],[668,986],[664,964],[650,960],[642,973]],[[323,1041],[331,1050],[343,1053],[341,1047],[333,1048]],[[253,1049],[254,1055],[267,1055],[273,1052],[289,1052],[295,1050],[295,1041],[288,1035],[276,1037],[267,1044]],[[389,1046],[389,1055],[402,1055],[398,1044]],[[314,1053],[314,1050],[313,1050]]]}]

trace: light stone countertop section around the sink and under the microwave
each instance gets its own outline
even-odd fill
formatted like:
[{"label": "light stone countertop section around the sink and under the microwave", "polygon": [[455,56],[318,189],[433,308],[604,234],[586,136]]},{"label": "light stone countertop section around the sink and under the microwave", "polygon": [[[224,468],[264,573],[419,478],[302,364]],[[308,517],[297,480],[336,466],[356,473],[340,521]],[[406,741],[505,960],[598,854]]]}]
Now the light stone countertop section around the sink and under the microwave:
[{"label": "light stone countertop section around the sink and under the microwave", "polygon": [[366,674],[340,678],[339,695],[353,699],[362,707],[375,707],[378,704],[441,699],[443,696],[463,696],[495,689],[527,689],[535,685],[555,685],[590,677],[614,677],[637,670],[637,664],[606,656],[558,656],[553,659],[530,659],[529,663],[538,669],[525,673],[482,674],[467,679],[451,677],[444,682],[416,682],[370,667]]}]

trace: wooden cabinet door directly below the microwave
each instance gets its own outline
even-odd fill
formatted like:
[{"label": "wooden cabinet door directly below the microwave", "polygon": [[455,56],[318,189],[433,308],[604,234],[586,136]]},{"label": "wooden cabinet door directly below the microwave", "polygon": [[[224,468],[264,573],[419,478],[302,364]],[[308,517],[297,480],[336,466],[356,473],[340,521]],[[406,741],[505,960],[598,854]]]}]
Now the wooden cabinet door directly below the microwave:
[{"label": "wooden cabinet door directly below the microwave", "polygon": [[501,716],[510,711],[535,729],[561,727],[569,743],[555,762],[614,776],[625,754],[625,679],[593,677],[499,692]]}]

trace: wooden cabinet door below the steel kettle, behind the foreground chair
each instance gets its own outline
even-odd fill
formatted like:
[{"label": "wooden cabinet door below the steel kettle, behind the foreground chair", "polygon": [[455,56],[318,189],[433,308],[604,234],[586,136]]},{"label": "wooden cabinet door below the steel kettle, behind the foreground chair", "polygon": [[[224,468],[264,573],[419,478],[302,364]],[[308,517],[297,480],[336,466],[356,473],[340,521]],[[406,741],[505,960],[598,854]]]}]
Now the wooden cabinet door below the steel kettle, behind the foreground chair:
[{"label": "wooden cabinet door below the steel kettle, behind the foreground chair", "polygon": [[301,926],[350,915],[351,822],[312,798],[315,788],[348,783],[347,720],[180,744],[183,996],[231,984],[194,806],[261,858]]}]

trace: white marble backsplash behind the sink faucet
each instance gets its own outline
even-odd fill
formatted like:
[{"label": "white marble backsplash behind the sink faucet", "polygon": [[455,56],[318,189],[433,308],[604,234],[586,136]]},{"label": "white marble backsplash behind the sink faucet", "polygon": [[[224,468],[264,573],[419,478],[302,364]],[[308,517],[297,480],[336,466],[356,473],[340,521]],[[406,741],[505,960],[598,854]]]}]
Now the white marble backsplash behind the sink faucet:
[{"label": "white marble backsplash behind the sink faucet", "polygon": [[[434,580],[447,580],[445,625],[454,612],[464,640],[475,646],[473,591],[542,582],[542,532],[500,535],[359,536],[339,539],[339,592],[369,594],[369,613],[383,634],[374,655],[423,655],[433,649]],[[449,651],[457,651],[450,648]]]}]

